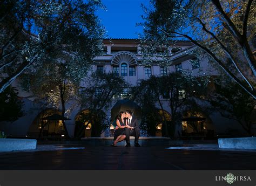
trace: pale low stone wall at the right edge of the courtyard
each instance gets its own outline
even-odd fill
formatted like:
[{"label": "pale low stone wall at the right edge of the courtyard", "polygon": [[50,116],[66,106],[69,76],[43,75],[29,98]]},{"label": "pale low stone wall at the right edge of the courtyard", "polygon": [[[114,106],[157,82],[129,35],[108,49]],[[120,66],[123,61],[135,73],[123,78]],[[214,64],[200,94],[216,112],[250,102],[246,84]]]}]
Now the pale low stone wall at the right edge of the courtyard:
[{"label": "pale low stone wall at the right edge of the courtyard", "polygon": [[219,148],[256,149],[256,137],[219,138]]}]

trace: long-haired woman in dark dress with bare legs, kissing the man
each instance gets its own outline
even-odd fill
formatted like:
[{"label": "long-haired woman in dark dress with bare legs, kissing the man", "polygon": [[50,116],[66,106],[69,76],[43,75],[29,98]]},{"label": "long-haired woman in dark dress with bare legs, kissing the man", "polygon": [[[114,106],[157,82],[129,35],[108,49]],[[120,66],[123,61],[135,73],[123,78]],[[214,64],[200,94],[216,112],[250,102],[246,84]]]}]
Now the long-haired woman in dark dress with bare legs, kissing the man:
[{"label": "long-haired woman in dark dress with bare legs, kissing the man", "polygon": [[117,116],[117,126],[118,129],[114,130],[114,138],[116,138],[116,140],[114,140],[112,146],[116,147],[117,146],[117,142],[123,141],[126,137],[125,135],[125,128],[130,127],[128,125],[125,125],[124,123],[124,118],[125,118],[125,113],[123,111],[119,112],[118,116]]}]

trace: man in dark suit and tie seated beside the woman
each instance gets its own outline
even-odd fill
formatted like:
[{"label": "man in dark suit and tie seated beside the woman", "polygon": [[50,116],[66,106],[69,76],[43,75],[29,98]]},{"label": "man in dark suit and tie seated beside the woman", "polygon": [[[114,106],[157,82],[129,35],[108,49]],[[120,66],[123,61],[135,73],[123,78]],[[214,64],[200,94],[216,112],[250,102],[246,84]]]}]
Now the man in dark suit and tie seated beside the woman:
[{"label": "man in dark suit and tie seated beside the woman", "polygon": [[132,128],[125,128],[126,131],[126,146],[125,147],[131,147],[130,143],[130,136],[134,136],[134,146],[140,147],[139,144],[139,123],[138,120],[132,116],[132,112],[130,110],[127,110],[125,112],[126,115],[126,123]]}]

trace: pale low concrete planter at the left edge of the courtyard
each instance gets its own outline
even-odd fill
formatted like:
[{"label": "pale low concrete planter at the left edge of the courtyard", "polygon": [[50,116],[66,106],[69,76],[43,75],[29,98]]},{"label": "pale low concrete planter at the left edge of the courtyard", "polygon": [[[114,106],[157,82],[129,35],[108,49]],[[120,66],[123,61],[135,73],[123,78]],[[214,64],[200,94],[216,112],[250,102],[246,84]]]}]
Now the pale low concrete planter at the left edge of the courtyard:
[{"label": "pale low concrete planter at the left edge of the courtyard", "polygon": [[0,139],[0,151],[36,149],[36,140],[30,139]]}]

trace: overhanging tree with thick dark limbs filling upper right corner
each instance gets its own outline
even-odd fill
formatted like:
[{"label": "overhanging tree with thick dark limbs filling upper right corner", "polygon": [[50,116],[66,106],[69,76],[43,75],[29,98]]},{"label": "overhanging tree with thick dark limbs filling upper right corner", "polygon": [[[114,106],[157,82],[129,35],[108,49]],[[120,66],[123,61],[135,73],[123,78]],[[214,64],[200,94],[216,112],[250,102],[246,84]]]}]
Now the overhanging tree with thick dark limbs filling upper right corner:
[{"label": "overhanging tree with thick dark limbs filling upper right corner", "polygon": [[256,98],[255,1],[153,0],[143,9],[146,40],[163,45],[177,38],[189,40]]}]

